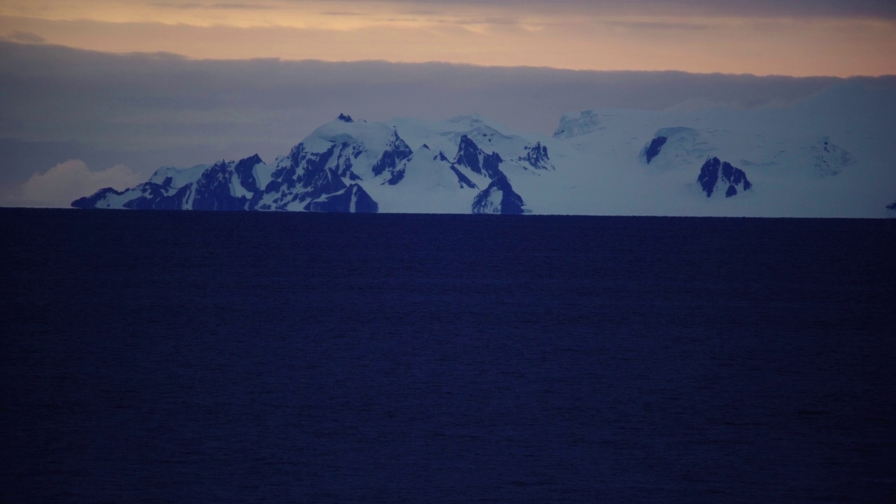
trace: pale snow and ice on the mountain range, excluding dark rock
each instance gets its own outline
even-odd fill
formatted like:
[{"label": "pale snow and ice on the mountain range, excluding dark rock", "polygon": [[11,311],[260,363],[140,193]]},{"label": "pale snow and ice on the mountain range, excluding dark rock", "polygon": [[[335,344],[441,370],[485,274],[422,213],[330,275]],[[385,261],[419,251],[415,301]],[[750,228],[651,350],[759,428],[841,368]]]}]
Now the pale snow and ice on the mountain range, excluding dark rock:
[{"label": "pale snow and ice on the mountain range, excluding dark rock", "polygon": [[[347,178],[347,184],[363,187],[383,213],[470,213],[474,197],[490,180],[458,167],[478,187],[471,189],[452,171],[458,143],[467,135],[483,152],[501,156],[500,169],[530,213],[883,217],[892,213],[886,205],[896,199],[893,109],[896,90],[850,84],[775,109],[586,110],[564,115],[554,137],[513,131],[472,115],[439,122],[333,121],[302,142],[314,155],[335,144],[328,167],[350,160],[361,180]],[[391,174],[375,178],[371,168],[396,132],[415,153],[399,167],[404,178],[390,185]],[[647,164],[645,149],[658,135],[668,141]],[[536,172],[519,161],[535,143],[547,148],[554,170]],[[439,152],[448,161],[437,159]],[[744,170],[753,187],[729,198],[707,198],[697,177],[711,156]],[[281,157],[271,167],[256,166],[259,187],[270,182],[276,167],[288,164],[289,158]],[[182,187],[205,168],[159,169],[151,180],[172,177]],[[266,195],[263,203],[279,197]],[[301,210],[304,204],[293,202],[287,209]],[[500,205],[499,191],[488,195],[487,205]]]}]

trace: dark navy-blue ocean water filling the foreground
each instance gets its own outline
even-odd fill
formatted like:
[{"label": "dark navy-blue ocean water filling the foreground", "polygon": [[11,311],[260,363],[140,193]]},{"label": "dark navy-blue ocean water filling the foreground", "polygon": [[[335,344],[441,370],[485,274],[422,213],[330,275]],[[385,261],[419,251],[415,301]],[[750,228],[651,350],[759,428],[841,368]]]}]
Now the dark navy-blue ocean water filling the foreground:
[{"label": "dark navy-blue ocean water filling the foreground", "polygon": [[893,221],[0,223],[4,501],[896,501]]}]

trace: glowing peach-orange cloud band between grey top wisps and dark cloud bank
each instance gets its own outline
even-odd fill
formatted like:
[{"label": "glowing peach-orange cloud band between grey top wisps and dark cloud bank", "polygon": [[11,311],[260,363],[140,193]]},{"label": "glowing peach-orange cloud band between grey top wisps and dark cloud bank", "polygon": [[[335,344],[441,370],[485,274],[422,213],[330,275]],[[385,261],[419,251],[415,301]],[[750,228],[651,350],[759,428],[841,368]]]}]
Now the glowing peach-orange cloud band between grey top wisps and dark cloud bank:
[{"label": "glowing peach-orange cloud band between grey top wisps and dark cloud bank", "polygon": [[[300,27],[0,16],[0,34],[22,31],[50,44],[193,58],[383,59],[734,74],[896,74],[894,22],[658,16],[595,21],[482,14],[434,20],[318,13],[316,18],[303,18],[307,26]],[[476,36],[470,37],[470,33]],[[707,44],[707,39],[712,43]]]}]

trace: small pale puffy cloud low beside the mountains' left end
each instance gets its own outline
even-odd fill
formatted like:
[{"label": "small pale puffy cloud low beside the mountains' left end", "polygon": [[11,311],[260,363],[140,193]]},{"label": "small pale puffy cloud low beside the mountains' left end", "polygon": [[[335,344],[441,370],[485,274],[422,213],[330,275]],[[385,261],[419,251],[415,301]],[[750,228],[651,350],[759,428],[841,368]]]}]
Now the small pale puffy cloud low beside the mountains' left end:
[{"label": "small pale puffy cloud low beside the mountains' left end", "polygon": [[8,202],[14,206],[68,208],[82,196],[90,196],[103,187],[124,189],[142,182],[142,177],[124,165],[103,171],[90,171],[84,161],[69,160],[35,173],[22,185],[19,194]]}]

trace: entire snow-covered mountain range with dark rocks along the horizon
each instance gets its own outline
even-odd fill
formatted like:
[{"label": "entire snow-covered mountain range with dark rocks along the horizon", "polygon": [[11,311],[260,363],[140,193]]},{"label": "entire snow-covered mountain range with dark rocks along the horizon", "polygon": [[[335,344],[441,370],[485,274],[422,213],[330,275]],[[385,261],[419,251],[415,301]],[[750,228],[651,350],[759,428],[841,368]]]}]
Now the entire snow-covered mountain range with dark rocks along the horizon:
[{"label": "entire snow-covered mountain range with dark rocks along the horizon", "polygon": [[892,215],[896,92],[774,109],[587,110],[553,136],[478,115],[341,115],[271,164],[164,167],[79,208],[386,213]]}]

